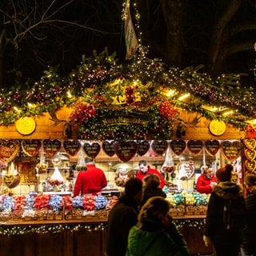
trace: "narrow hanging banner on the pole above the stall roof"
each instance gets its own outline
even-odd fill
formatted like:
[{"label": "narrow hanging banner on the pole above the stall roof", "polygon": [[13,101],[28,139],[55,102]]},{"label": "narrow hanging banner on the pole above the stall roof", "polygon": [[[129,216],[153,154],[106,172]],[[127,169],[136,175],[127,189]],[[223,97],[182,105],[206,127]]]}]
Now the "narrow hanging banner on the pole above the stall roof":
[{"label": "narrow hanging banner on the pole above the stall roof", "polygon": [[138,39],[134,31],[134,25],[130,17],[130,0],[126,1],[125,10],[125,38],[126,38],[126,59],[134,56],[138,50]]}]

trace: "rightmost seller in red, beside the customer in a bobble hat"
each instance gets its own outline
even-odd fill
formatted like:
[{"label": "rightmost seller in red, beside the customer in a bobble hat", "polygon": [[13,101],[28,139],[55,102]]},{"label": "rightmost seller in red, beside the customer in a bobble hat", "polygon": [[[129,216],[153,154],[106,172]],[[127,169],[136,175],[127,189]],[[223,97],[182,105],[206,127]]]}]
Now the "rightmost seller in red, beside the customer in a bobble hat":
[{"label": "rightmost seller in red, beside the customer in a bobble hat", "polygon": [[214,171],[205,166],[203,168],[203,173],[198,177],[196,184],[197,191],[202,194],[210,194],[216,184],[217,180]]}]

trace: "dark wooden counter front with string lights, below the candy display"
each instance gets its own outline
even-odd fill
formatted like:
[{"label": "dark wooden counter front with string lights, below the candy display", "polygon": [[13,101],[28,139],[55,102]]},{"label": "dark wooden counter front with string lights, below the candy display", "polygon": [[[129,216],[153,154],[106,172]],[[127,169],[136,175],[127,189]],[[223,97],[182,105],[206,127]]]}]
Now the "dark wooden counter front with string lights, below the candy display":
[{"label": "dark wooden counter front with string lights, below the candy display", "polygon": [[[204,216],[175,217],[191,255],[211,254],[202,241]],[[104,256],[106,218],[0,222],[0,255]]]}]

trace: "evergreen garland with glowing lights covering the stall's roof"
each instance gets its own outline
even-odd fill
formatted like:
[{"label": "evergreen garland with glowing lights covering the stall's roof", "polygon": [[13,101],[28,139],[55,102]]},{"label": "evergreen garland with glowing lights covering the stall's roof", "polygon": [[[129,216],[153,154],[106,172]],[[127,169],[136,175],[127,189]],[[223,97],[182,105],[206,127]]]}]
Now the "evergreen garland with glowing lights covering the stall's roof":
[{"label": "evergreen garland with glowing lights covering the stall's roof", "polygon": [[[254,89],[249,88],[241,92],[238,76],[222,75],[214,80],[207,74],[198,73],[199,67],[188,67],[184,70],[168,68],[159,59],[146,58],[146,53],[147,49],[143,47],[130,62],[119,63],[116,54],[110,55],[107,49],[101,54],[94,51],[94,57],[86,58],[66,78],[58,75],[56,67],[51,67],[49,71],[45,71],[45,75],[39,81],[34,84],[27,82],[30,90],[27,89],[28,86],[22,84],[15,85],[10,90],[2,89],[0,123],[8,126],[18,118],[42,115],[65,105],[72,106],[77,102],[85,106],[87,104],[94,106],[97,114],[110,114],[112,111],[110,98],[115,97],[122,90],[126,91],[127,88],[130,90],[127,89],[124,94],[129,99],[129,104],[126,105],[127,110],[123,111],[131,110],[132,107],[135,110],[150,106],[150,114],[156,123],[159,116],[158,103],[170,101],[173,102],[173,107],[195,111],[209,119],[221,119],[235,127],[245,127],[245,120],[254,118]],[[110,86],[114,81],[119,81],[118,86]],[[141,102],[134,102],[133,90],[141,94]],[[162,94],[164,90],[190,93],[190,104],[179,102],[176,94],[166,97]],[[106,94],[108,98],[105,97]],[[202,109],[203,105],[226,106],[234,110],[235,114],[220,116]],[[15,111],[15,108],[18,111]],[[93,125],[95,123],[92,127],[87,126],[88,123],[81,123],[78,130],[81,134],[87,130],[94,130],[94,134],[89,134],[89,138],[100,138],[102,133],[109,132],[106,128],[101,129],[96,126],[96,122],[97,120],[92,122]],[[168,123],[165,123],[165,126],[168,126]],[[126,128],[124,126],[118,128],[119,138],[123,138],[122,134],[126,134]],[[160,129],[159,124],[158,128]],[[169,136],[171,132],[171,128],[164,131]],[[138,134],[138,138],[147,136],[143,128],[136,130],[135,133]],[[162,130],[158,130],[157,134],[162,134]],[[111,134],[110,138],[113,136]]]}]

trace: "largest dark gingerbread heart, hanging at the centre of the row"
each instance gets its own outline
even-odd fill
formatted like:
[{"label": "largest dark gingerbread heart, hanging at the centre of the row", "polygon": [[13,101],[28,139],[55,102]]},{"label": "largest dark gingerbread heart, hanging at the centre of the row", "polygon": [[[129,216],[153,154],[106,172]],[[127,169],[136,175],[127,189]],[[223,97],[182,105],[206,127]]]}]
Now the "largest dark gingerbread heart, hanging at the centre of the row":
[{"label": "largest dark gingerbread heart, hanging at the centre of the row", "polygon": [[114,151],[122,162],[128,162],[137,152],[137,143],[134,141],[115,142]]}]

